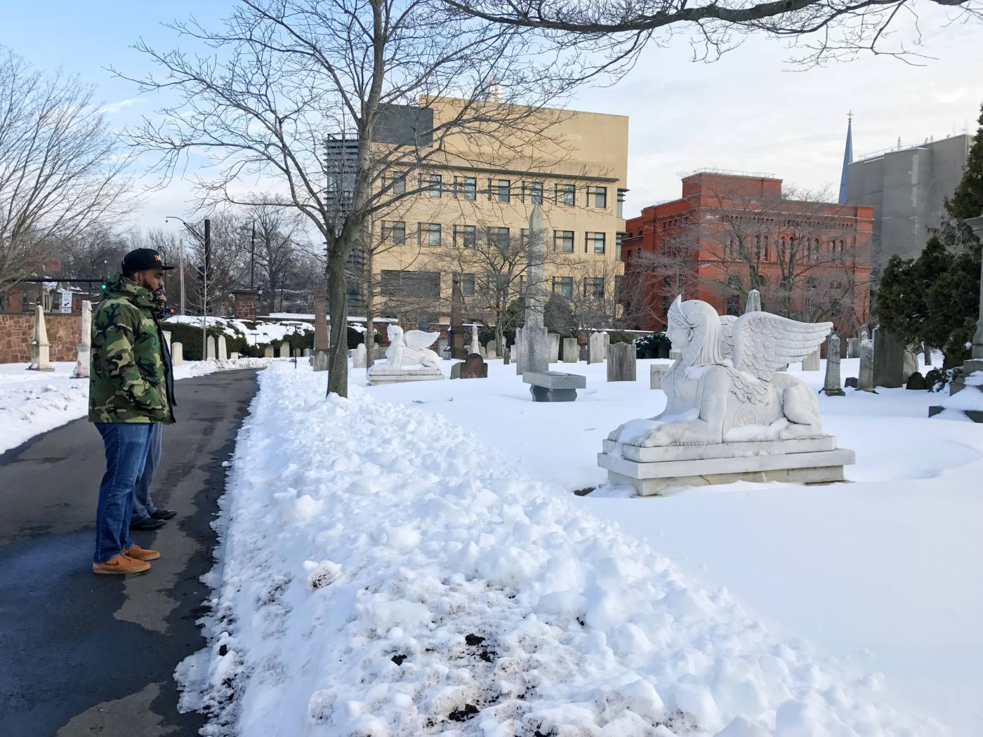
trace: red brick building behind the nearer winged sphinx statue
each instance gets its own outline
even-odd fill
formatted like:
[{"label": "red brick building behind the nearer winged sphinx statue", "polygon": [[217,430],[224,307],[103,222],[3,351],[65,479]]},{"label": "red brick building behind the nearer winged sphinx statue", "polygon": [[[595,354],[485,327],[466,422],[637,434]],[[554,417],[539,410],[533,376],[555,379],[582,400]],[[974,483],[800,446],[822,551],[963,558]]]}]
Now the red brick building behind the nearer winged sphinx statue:
[{"label": "red brick building behind the nearer winged sphinx statue", "polygon": [[628,312],[662,330],[677,294],[739,314],[758,289],[768,312],[853,333],[869,318],[873,223],[873,207],[796,198],[771,176],[692,174],[681,198],[626,223],[626,293],[642,303]]}]

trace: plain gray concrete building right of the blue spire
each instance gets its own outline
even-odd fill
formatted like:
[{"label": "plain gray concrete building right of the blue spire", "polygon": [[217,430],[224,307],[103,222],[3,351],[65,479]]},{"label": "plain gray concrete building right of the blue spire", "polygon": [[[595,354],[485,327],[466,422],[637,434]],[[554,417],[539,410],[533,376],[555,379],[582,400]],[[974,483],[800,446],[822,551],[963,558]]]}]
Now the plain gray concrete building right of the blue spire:
[{"label": "plain gray concrete building right of the blue spire", "polygon": [[878,151],[847,165],[847,204],[874,207],[876,274],[892,255],[921,253],[928,229],[942,221],[969,155],[972,137],[953,136],[907,148]]}]

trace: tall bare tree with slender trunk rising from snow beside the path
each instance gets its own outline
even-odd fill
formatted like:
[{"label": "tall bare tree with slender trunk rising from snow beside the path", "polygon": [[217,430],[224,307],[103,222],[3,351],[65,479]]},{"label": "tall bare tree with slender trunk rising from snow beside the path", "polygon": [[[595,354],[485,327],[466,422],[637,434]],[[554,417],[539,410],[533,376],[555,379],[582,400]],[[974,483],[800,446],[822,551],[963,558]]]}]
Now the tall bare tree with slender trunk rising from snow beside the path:
[{"label": "tall bare tree with slender trunk rising from snow beside the path", "polygon": [[139,44],[163,70],[142,88],[181,101],[135,141],[163,154],[165,176],[190,152],[209,156],[211,201],[244,203],[244,175],[278,180],[326,247],[328,391],[346,395],[345,269],[370,216],[422,192],[429,165],[539,153],[555,122],[544,105],[574,81],[554,64],[538,73],[542,49],[518,29],[439,0],[241,0],[221,28],[172,28],[213,52]]}]

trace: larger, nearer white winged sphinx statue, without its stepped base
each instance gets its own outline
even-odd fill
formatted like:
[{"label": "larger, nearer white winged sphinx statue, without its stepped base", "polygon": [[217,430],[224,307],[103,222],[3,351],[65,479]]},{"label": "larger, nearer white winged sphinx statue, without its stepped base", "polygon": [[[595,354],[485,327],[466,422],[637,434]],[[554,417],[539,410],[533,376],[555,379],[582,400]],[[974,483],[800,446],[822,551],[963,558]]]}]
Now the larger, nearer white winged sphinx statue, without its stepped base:
[{"label": "larger, nearer white winged sphinx statue, without its stepped base", "polygon": [[781,369],[819,348],[832,322],[771,312],[721,317],[706,302],[681,297],[667,321],[666,334],[682,355],[663,379],[665,411],[653,422],[621,425],[609,440],[655,447],[825,434],[816,395]]}]

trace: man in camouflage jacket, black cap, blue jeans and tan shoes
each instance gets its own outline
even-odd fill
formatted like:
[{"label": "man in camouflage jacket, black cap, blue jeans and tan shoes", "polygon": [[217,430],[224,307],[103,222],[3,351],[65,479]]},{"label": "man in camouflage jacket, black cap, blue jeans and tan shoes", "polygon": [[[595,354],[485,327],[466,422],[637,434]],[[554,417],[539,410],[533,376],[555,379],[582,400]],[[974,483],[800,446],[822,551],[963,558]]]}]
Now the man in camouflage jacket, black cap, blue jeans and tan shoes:
[{"label": "man in camouflage jacket, black cap, blue jeans and tan shoes", "polygon": [[160,557],[130,539],[135,484],[153,433],[174,422],[173,377],[157,314],[165,266],[156,251],[123,258],[92,315],[88,420],[102,435],[106,473],[96,512],[95,573],[139,573]]}]

